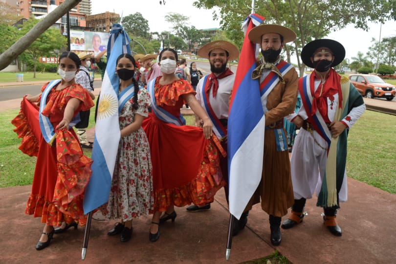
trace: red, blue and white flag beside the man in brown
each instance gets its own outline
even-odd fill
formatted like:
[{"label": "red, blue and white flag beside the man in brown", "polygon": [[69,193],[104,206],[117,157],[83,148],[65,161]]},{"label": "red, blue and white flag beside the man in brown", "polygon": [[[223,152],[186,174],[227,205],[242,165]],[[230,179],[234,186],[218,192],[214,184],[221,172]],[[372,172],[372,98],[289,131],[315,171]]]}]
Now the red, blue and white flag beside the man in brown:
[{"label": "red, blue and white flag beside the man in brown", "polygon": [[228,116],[229,211],[237,219],[257,189],[263,169],[265,116],[259,81],[252,80],[259,47],[247,37],[263,21],[264,17],[250,14],[243,22],[245,39]]}]

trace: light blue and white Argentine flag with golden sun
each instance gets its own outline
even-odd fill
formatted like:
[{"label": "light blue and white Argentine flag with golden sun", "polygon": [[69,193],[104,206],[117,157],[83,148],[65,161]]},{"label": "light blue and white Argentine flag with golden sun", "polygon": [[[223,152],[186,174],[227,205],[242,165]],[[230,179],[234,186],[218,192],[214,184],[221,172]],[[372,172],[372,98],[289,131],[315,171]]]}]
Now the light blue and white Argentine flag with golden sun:
[{"label": "light blue and white Argentine flag with golden sun", "polygon": [[113,24],[108,43],[108,60],[95,126],[95,139],[92,149],[92,176],[84,197],[84,213],[106,203],[110,195],[111,179],[120,141],[118,121],[118,83],[115,74],[116,60],[123,53],[131,54],[131,40],[120,24]]}]

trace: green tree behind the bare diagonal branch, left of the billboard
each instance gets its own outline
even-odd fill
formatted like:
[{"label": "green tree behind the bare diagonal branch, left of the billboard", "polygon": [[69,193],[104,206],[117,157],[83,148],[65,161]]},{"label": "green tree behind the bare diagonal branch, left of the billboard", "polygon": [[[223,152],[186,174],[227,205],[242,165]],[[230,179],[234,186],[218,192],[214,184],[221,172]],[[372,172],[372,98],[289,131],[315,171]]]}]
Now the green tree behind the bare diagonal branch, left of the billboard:
[{"label": "green tree behind the bare diagonal branch, left of the billboard", "polygon": [[[32,29],[39,20],[28,19],[20,29],[20,36],[25,35]],[[34,62],[33,78],[36,78],[36,66],[40,57],[53,55],[55,50],[66,47],[66,38],[62,36],[61,31],[57,28],[50,27],[44,31],[25,51],[26,55],[31,56]],[[51,54],[52,53],[52,54]]]}]

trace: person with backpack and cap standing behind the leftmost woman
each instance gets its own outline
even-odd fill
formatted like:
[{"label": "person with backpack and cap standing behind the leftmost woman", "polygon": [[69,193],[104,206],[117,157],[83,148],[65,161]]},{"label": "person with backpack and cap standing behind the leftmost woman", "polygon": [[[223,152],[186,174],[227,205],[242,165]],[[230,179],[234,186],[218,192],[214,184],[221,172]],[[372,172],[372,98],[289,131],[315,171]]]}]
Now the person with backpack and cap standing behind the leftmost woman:
[{"label": "person with backpack and cap standing behind the leftmost woman", "polygon": [[[76,83],[87,89],[91,99],[93,100],[95,99],[95,95],[93,95],[92,93],[93,80],[91,80],[88,70],[88,68],[91,66],[89,56],[90,54],[87,54],[86,52],[81,52],[80,54],[78,54],[78,57],[80,58],[81,61],[81,65],[78,73],[76,74]],[[87,141],[87,132],[86,132],[89,123],[89,113],[90,110],[80,111],[81,121],[78,122],[75,127],[77,128],[77,135],[78,135],[78,139],[80,140],[81,147],[91,149],[92,143],[89,143]]]}]

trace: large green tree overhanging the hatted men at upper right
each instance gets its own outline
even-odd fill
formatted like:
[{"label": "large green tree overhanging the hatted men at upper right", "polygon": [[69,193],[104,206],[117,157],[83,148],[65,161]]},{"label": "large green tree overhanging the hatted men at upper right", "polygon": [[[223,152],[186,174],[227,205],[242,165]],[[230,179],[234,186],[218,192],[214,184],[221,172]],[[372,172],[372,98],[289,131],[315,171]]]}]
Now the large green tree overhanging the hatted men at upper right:
[{"label": "large green tree overhanging the hatted men at upper right", "polygon": [[[219,7],[221,29],[236,44],[242,43],[241,23],[251,12],[250,5],[251,0],[194,2],[198,8]],[[256,1],[255,8],[255,13],[266,18],[265,23],[281,24],[296,32],[296,41],[285,49],[287,61],[290,61],[291,55],[297,57],[300,73],[305,68],[300,61],[300,50],[308,42],[323,38],[351,23],[367,30],[368,21],[382,22],[396,17],[396,11],[390,13],[395,9],[391,0],[268,0]],[[214,16],[214,19],[217,18]]]}]

